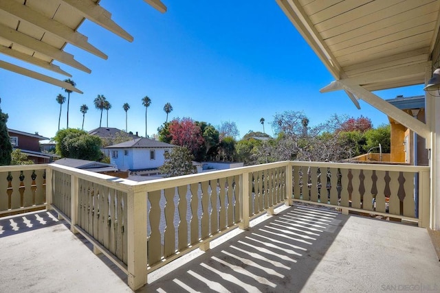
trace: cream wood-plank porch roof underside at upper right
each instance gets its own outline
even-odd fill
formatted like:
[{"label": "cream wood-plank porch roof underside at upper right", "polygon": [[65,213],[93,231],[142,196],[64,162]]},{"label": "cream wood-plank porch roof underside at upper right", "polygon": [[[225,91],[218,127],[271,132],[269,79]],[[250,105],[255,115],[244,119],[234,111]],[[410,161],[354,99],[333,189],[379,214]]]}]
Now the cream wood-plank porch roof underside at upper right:
[{"label": "cream wood-plank porch roof underside at upper right", "polygon": [[424,84],[440,1],[276,1],[336,80],[368,91]]}]

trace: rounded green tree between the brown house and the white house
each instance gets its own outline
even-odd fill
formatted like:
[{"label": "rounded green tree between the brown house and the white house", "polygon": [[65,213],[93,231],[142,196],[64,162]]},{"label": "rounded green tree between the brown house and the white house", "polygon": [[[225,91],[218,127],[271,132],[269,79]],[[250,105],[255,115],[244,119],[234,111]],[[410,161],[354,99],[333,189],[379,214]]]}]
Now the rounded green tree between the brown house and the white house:
[{"label": "rounded green tree between the brown house and the white house", "polygon": [[56,153],[63,158],[100,161],[103,157],[100,138],[89,135],[84,130],[75,128],[59,130],[54,141],[56,141]]}]

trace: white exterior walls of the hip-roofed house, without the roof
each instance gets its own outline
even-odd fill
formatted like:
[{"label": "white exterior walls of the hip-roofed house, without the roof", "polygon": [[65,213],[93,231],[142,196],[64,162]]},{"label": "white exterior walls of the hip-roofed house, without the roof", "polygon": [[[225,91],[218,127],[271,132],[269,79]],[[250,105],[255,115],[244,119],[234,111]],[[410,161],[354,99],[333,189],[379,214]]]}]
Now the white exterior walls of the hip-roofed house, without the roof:
[{"label": "white exterior walls of the hip-roofed house, without the roof", "polygon": [[[149,169],[157,168],[165,163],[165,151],[171,152],[171,148],[108,148],[111,163],[115,163],[119,169]],[[154,150],[155,159],[150,159],[150,152]],[[113,158],[113,152],[118,151],[118,158]],[[125,155],[124,151],[128,151]]]}]

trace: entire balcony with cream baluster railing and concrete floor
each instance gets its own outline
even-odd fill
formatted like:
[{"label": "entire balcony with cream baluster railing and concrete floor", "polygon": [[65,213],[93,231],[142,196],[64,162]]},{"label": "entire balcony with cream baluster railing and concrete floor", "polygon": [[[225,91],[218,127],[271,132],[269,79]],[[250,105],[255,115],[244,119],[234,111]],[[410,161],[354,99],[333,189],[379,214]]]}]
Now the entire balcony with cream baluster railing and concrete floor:
[{"label": "entire balcony with cream baluster railing and concrete floor", "polygon": [[440,288],[419,228],[430,220],[429,172],[285,161],[135,183],[60,165],[1,167],[2,215],[47,211],[0,220],[0,288]]}]

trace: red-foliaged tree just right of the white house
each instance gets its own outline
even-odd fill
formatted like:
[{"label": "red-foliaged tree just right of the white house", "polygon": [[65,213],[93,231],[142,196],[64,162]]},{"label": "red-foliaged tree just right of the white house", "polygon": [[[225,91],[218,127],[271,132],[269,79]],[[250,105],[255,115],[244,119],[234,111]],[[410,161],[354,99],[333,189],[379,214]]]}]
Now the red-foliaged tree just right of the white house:
[{"label": "red-foliaged tree just right of the white house", "polygon": [[205,143],[201,128],[189,117],[173,119],[168,126],[168,131],[171,136],[171,143],[186,146],[194,155]]}]

